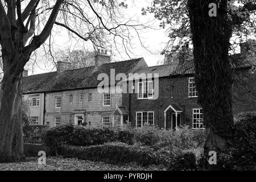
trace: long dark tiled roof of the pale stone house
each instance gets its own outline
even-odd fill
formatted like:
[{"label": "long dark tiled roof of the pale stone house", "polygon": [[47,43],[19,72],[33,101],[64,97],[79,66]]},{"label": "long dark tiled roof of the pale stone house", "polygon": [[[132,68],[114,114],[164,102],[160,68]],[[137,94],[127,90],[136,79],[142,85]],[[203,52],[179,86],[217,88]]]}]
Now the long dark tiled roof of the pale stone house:
[{"label": "long dark tiled roof of the pale stone house", "polygon": [[[81,89],[97,87],[102,80],[97,80],[100,73],[110,76],[110,69],[115,70],[115,75],[134,70],[143,58],[102,64],[96,71],[94,67],[67,70],[60,75],[57,72],[43,73],[23,77],[23,93],[39,93],[67,89]],[[109,77],[110,80],[110,77]]]}]

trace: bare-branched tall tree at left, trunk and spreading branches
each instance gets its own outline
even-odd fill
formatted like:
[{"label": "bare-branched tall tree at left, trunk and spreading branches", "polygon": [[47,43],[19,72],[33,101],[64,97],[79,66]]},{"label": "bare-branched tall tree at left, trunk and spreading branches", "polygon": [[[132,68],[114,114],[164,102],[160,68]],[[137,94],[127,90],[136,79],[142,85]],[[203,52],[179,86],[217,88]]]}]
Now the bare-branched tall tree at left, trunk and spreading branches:
[{"label": "bare-branched tall tree at left, trunk and spreading branches", "polygon": [[125,2],[112,0],[0,0],[4,73],[0,94],[0,162],[24,159],[22,71],[31,54],[51,38],[55,26],[65,28],[70,37],[92,42],[94,47],[127,46],[130,36],[137,35],[145,26],[135,20],[125,21],[121,12],[126,7]]}]

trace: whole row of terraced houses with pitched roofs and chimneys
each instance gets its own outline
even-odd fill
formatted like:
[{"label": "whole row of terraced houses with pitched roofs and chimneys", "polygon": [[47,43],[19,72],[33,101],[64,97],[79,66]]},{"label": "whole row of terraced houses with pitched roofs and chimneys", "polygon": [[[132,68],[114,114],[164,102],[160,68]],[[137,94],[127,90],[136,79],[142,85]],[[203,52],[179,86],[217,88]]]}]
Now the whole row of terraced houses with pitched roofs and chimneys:
[{"label": "whole row of terraced houses with pitched roofs and chimneys", "polygon": [[[243,43],[241,53],[230,56],[234,63],[234,114],[256,110],[256,73],[252,69],[256,65],[256,42],[250,44],[254,45],[253,51]],[[30,102],[32,124],[56,126],[71,122],[87,126],[122,126],[130,123],[138,128],[148,123],[166,130],[180,125],[204,129],[192,60],[181,57],[164,65],[148,67],[143,58],[110,63],[110,56],[103,54],[95,57],[93,67],[70,70],[68,65],[58,62],[56,72],[33,76],[26,76],[24,72],[23,98]],[[132,82],[131,92],[98,92],[97,86],[102,81],[98,80],[100,73],[106,73],[111,80],[113,70],[115,76],[125,74],[128,80],[123,83]],[[139,77],[129,77],[129,73]],[[148,73],[157,73],[158,78],[141,77]],[[115,80],[114,85],[117,82]]]}]

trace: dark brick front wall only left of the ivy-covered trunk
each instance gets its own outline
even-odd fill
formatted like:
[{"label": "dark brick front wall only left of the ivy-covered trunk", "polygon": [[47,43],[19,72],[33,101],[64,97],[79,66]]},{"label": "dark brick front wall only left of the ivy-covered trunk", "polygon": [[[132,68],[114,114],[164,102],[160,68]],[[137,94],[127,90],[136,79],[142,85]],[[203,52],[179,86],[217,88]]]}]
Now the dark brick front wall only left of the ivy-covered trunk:
[{"label": "dark brick front wall only left of the ivy-covered trunk", "polygon": [[[154,111],[154,124],[164,128],[164,110],[171,103],[175,103],[183,109],[181,125],[192,126],[193,109],[199,109],[200,105],[197,104],[197,98],[188,97],[188,78],[159,78],[159,97],[156,100],[139,100],[137,94],[130,94],[131,125],[135,126],[137,111]],[[123,103],[126,103],[127,108],[129,108],[129,94],[123,94]],[[167,115],[170,115],[170,113],[171,109],[167,111]],[[168,120],[170,120],[169,117]]]}]

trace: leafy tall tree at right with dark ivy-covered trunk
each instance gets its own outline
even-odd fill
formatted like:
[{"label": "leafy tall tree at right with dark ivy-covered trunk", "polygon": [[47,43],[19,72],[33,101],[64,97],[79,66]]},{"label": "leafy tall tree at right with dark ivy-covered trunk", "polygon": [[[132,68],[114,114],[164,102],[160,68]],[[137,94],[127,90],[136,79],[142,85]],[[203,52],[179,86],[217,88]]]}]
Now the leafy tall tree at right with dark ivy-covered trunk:
[{"label": "leafy tall tree at right with dark ivy-covered trunk", "polygon": [[[216,5],[216,16],[209,11]],[[193,47],[195,82],[199,104],[203,107],[208,152],[225,152],[232,143],[232,84],[234,61],[229,57],[231,38],[254,34],[256,10],[254,1],[227,0],[160,0],[142,9],[142,14],[154,13],[162,20],[161,27],[170,26],[164,52],[174,53],[180,46]]]}]

